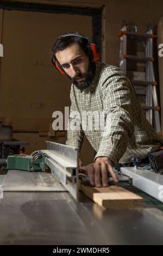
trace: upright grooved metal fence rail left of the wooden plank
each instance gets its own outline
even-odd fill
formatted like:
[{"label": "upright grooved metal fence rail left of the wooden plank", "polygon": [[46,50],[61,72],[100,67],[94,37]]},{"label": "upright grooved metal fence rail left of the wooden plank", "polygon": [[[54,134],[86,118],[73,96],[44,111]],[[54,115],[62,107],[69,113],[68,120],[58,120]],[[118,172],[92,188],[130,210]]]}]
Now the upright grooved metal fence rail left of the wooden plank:
[{"label": "upright grooved metal fence rail left of the wooden plank", "polygon": [[78,149],[47,141],[45,163],[75,199],[78,199]]}]

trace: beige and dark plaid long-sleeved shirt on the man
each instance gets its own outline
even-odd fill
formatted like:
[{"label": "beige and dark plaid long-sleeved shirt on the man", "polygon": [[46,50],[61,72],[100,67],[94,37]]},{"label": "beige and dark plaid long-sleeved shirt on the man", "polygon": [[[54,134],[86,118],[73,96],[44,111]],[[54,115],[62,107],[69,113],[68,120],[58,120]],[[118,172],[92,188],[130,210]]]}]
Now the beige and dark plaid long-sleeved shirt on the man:
[{"label": "beige and dark plaid long-sleeved shirt on the man", "polygon": [[107,156],[115,165],[128,163],[130,157],[144,159],[163,144],[144,117],[130,78],[116,66],[97,62],[91,86],[81,91],[72,84],[70,98],[69,124],[73,120],[72,111],[78,111],[80,117],[83,111],[105,115],[105,130],[85,129],[85,124],[77,119],[81,129],[67,131],[66,144],[80,151],[85,135],[97,152],[95,159]]}]

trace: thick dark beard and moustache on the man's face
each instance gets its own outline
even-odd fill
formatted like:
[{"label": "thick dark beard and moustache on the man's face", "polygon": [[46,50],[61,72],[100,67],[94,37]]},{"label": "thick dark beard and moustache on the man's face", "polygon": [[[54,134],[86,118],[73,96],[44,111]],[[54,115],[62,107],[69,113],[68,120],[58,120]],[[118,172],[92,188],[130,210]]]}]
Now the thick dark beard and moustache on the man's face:
[{"label": "thick dark beard and moustache on the man's face", "polygon": [[[93,77],[95,76],[96,71],[96,64],[90,63],[89,69],[85,74],[78,74],[77,76],[70,77],[72,83],[80,90],[84,90],[86,88],[89,88],[91,86],[91,83],[93,81]],[[83,78],[85,77],[85,81],[77,82],[77,78]]]}]

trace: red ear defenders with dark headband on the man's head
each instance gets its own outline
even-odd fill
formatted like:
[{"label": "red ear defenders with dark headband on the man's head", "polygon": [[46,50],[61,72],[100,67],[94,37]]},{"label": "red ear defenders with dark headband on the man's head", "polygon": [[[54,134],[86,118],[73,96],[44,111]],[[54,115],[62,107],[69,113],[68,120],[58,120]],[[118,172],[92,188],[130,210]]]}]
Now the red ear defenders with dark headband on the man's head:
[{"label": "red ear defenders with dark headband on the man's head", "polygon": [[[67,33],[61,36],[61,38],[64,38],[66,36],[78,36],[79,38],[83,38],[87,40],[87,49],[89,52],[89,57],[91,59],[91,62],[97,62],[99,60],[99,49],[98,46],[96,45],[96,42],[92,38],[88,38],[87,36],[80,35],[78,33]],[[57,58],[55,57],[55,54],[52,54],[52,63],[54,64],[55,68],[62,74],[66,75],[64,69],[58,62]]]}]

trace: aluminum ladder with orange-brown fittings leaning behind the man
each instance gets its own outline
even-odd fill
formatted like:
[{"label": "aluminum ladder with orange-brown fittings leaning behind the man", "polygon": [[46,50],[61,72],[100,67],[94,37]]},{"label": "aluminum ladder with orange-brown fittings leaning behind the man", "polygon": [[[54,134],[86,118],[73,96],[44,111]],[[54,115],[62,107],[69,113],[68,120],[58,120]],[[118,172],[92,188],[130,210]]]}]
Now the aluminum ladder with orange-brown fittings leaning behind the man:
[{"label": "aluminum ladder with orange-brown fittings leaning behind the man", "polygon": [[[120,55],[119,55],[119,67],[127,74],[127,61],[143,62],[146,66],[146,80],[137,81],[133,80],[134,87],[143,86],[145,89],[146,104],[142,106],[146,111],[146,118],[151,123],[155,131],[161,136],[161,125],[160,125],[160,107],[158,106],[158,97],[156,94],[156,81],[154,76],[153,68],[153,39],[156,35],[153,34],[151,24],[147,26],[146,34],[137,33],[137,26],[134,26],[135,31],[128,31],[126,21],[122,22],[122,28],[118,36],[120,37]],[[136,40],[141,42],[145,50],[145,57],[135,56],[127,54],[127,43],[128,40]]]}]

